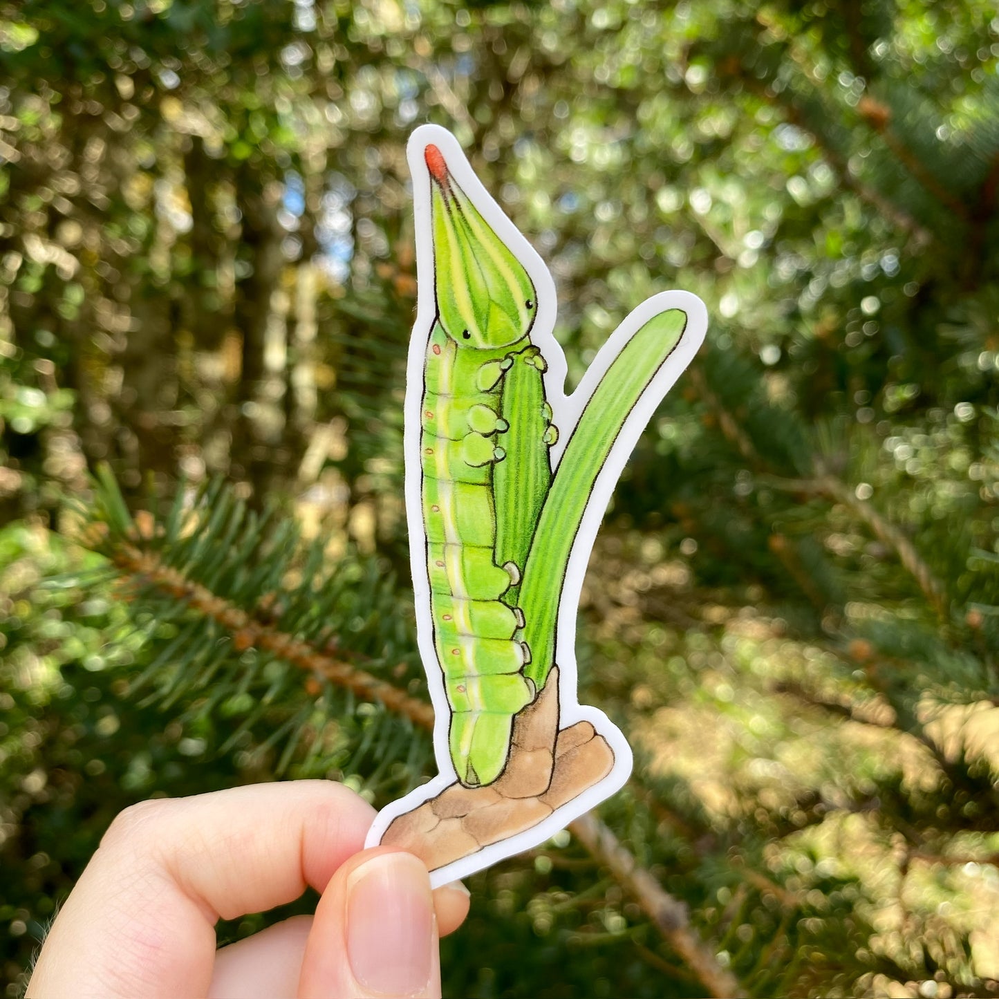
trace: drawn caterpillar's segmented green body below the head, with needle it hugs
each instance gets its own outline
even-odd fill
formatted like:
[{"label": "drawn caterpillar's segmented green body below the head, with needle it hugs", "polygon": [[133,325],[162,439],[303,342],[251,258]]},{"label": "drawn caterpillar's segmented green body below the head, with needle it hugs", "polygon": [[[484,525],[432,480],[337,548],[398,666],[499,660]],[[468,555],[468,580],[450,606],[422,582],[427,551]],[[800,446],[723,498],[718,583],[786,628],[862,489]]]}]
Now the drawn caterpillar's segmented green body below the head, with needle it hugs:
[{"label": "drawn caterpillar's segmented green body below the head, with needle it hugs", "polygon": [[[499,348],[463,341],[440,323],[431,334],[420,453],[450,749],[459,778],[474,786],[500,775],[513,716],[536,693],[523,675],[530,649],[520,637],[515,595],[524,527],[529,543],[550,480],[545,442],[553,434],[543,362],[528,338]],[[532,447],[521,444],[524,425],[537,431]]]}]

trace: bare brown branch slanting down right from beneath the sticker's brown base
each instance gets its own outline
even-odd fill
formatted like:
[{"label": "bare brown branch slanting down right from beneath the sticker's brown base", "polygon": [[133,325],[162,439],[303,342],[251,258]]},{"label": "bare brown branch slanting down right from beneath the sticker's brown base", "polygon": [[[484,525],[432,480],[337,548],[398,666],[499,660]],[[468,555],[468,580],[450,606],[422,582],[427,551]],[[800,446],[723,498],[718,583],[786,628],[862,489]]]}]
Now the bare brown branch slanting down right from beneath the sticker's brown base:
[{"label": "bare brown branch slanting down right from beneath the sticker's brown base", "polygon": [[691,928],[687,907],[641,867],[633,854],[598,818],[592,814],[582,815],[572,822],[569,829],[648,914],[709,995],[745,995],[735,976],[718,963],[714,953]]}]

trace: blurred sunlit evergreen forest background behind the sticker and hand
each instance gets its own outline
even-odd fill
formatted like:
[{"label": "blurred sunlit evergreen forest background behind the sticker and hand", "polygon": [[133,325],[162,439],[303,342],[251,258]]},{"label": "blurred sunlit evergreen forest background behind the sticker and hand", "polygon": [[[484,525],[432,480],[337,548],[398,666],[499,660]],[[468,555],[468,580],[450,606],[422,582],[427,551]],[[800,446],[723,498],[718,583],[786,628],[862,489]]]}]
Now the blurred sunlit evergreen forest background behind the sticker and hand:
[{"label": "blurred sunlit evergreen forest background behind the sticker and hand", "polygon": [[999,991],[997,71],[991,0],[0,0],[6,995],[127,804],[430,773],[425,121],[571,378],[710,315],[580,614],[633,779],[470,879],[446,994]]}]

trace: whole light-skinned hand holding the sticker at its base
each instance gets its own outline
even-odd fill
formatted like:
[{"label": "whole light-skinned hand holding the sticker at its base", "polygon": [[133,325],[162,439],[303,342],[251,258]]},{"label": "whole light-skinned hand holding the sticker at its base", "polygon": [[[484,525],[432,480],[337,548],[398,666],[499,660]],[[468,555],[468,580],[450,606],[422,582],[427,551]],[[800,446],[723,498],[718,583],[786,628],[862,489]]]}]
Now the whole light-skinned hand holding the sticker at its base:
[{"label": "whole light-skinned hand holding the sticker at its base", "polygon": [[[29,999],[440,996],[438,937],[468,892],[364,850],[374,809],[325,780],[145,801],[111,824],[59,912]],[[293,901],[296,916],[216,950],[215,924]]]}]

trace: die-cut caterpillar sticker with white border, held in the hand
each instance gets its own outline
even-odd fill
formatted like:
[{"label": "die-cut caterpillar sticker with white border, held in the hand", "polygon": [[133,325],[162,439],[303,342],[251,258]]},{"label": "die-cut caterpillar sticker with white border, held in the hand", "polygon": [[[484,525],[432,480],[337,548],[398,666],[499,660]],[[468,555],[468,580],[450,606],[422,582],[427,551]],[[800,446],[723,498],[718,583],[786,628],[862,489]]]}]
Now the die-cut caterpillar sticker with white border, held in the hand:
[{"label": "die-cut caterpillar sticker with white border, held in the hand", "polygon": [[576,699],[576,609],[617,479],[707,314],[653,296],[566,396],[540,257],[450,132],[422,126],[408,157],[406,509],[440,772],[383,808],[367,845],[415,853],[438,887],[542,843],[631,772],[620,730]]}]

